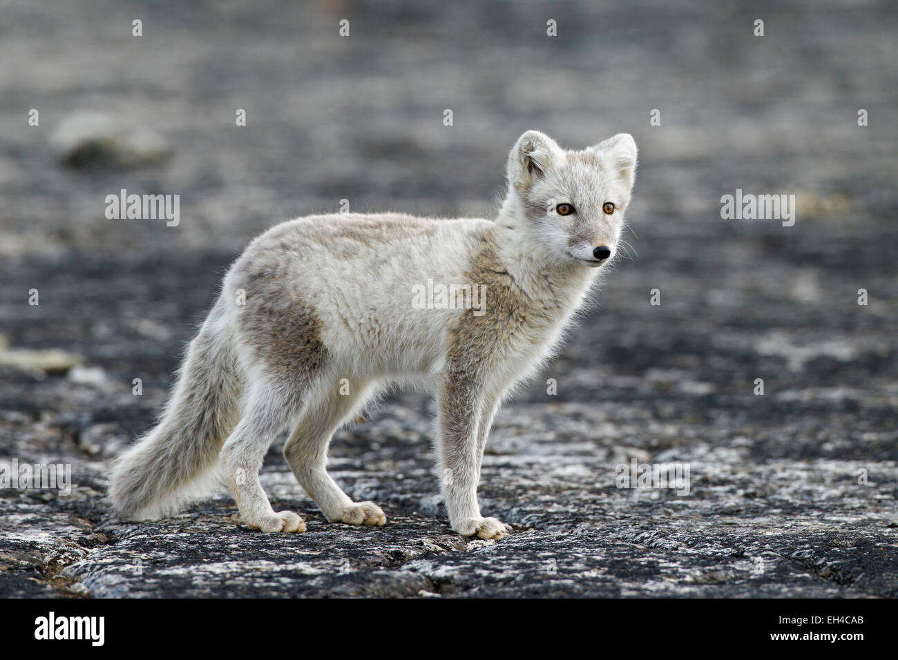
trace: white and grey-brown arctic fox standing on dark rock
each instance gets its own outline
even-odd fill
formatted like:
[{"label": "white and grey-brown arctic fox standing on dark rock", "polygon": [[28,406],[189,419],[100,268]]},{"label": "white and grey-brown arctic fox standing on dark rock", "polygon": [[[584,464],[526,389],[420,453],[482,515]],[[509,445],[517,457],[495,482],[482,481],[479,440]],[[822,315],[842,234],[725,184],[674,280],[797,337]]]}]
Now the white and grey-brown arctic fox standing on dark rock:
[{"label": "white and grey-brown arctic fox standing on dark rock", "polygon": [[[259,481],[269,445],[289,429],[286,460],[327,519],[384,524],[379,506],[353,502],[330,478],[330,438],[385,384],[423,382],[437,397],[452,529],[505,536],[477,501],[489,427],[616,255],[636,159],[629,134],[566,151],[530,130],[508,156],[494,220],[309,216],[260,235],[225,276],[158,425],[116,463],[117,514],[170,515],[223,468],[251,529],[304,532],[299,515],[272,510]],[[480,309],[413,304],[430,281],[481,292]]]}]

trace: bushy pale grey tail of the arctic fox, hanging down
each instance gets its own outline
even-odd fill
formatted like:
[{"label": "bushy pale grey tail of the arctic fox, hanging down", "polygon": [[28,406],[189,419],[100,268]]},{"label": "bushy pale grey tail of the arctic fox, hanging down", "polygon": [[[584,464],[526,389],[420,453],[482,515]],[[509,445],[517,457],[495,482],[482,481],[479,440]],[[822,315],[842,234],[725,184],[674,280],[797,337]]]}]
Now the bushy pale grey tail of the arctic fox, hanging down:
[{"label": "bushy pale grey tail of the arctic fox, hanging down", "polygon": [[163,417],[113,467],[110,498],[123,519],[172,515],[217,481],[218,453],[239,420],[241,387],[217,321],[214,309],[190,342]]}]

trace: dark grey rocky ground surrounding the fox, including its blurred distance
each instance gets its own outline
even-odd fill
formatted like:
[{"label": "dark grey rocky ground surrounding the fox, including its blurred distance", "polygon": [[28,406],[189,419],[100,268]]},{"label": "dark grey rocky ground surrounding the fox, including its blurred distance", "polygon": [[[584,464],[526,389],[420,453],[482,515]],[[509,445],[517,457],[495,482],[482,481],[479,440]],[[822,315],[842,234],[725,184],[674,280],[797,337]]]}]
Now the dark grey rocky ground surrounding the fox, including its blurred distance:
[{"label": "dark grey rocky ground surrounding the fox, including its blurred distance", "polygon": [[[898,596],[894,9],[0,7],[0,463],[74,482],[0,489],[0,594]],[[328,524],[283,438],[263,485],[304,534],[251,532],[224,492],[110,517],[110,460],[252,235],[344,198],[489,215],[526,128],[626,130],[641,164],[633,259],[497,417],[481,507],[509,537],[450,531],[432,404],[407,392],[332,445],[384,527]],[[180,194],[180,224],[107,219],[122,188]],[[721,219],[735,189],[796,194],[796,224]],[[688,466],[688,494],[618,488],[633,460]]]}]

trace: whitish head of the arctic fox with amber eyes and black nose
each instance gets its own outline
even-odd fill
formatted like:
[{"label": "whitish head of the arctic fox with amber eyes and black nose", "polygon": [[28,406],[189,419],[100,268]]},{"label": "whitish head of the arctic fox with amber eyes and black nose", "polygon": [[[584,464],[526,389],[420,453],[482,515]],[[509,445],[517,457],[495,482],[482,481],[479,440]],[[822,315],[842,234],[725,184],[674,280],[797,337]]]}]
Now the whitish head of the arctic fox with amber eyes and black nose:
[{"label": "whitish head of the arctic fox with amber eyes and black nose", "polygon": [[515,229],[550,263],[584,268],[607,263],[621,240],[636,154],[629,133],[566,151],[550,136],[527,131],[508,155]]}]

